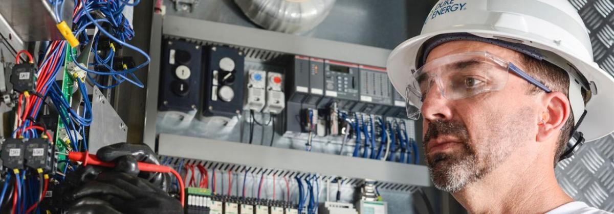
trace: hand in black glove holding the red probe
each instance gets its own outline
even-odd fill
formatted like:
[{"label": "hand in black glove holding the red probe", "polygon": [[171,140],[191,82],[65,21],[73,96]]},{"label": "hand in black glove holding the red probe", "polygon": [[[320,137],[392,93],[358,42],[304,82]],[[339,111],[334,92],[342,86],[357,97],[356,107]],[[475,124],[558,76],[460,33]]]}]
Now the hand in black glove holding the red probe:
[{"label": "hand in black glove holding the red probe", "polygon": [[180,202],[167,193],[169,175],[138,170],[137,161],[160,164],[149,147],[119,143],[96,155],[115,162],[115,168],[88,165],[67,174],[57,204],[68,213],[182,213]]}]

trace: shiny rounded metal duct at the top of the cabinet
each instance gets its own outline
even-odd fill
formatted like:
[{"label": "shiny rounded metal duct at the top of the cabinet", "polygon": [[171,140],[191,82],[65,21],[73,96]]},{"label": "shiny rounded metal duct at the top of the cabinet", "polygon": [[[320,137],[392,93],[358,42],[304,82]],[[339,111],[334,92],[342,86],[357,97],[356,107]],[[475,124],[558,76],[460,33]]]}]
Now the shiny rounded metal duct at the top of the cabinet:
[{"label": "shiny rounded metal duct at the top of the cabinet", "polygon": [[235,3],[262,28],[298,34],[324,21],[335,0],[235,0]]}]

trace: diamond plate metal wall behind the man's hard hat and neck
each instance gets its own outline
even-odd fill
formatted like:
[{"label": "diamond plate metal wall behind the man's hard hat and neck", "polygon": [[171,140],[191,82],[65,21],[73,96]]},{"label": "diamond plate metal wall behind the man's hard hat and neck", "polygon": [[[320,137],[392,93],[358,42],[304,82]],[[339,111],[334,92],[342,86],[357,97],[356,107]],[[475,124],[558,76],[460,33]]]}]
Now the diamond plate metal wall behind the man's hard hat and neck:
[{"label": "diamond plate metal wall behind the man's hard hat and neck", "polygon": [[[569,2],[588,28],[595,61],[614,76],[614,0]],[[572,158],[561,161],[555,172],[573,199],[614,212],[614,134],[587,142]]]}]

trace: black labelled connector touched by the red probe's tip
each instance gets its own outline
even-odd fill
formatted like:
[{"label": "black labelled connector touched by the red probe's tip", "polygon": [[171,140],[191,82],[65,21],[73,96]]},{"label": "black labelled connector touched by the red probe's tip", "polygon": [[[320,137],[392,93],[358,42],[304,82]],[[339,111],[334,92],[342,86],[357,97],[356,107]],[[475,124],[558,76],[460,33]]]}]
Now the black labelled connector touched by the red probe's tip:
[{"label": "black labelled connector touched by the red probe's tip", "polygon": [[29,139],[25,146],[25,164],[32,169],[42,169],[46,174],[54,174],[55,146],[48,139]]}]

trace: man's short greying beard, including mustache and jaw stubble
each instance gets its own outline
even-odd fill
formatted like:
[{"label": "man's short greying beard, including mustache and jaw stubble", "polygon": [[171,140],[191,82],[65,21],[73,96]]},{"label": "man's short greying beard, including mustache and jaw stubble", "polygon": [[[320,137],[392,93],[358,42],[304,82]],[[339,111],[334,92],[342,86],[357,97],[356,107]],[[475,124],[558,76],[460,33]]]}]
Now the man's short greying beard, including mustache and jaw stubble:
[{"label": "man's short greying beard, including mustache and jaw stubble", "polygon": [[[489,133],[481,139],[472,139],[468,135],[465,124],[457,121],[436,120],[430,122],[424,135],[423,146],[430,139],[440,135],[454,136],[461,141],[462,149],[452,153],[433,153],[426,155],[429,166],[430,179],[440,190],[456,193],[476,180],[482,179],[486,174],[497,168],[511,154],[511,142],[524,142],[529,139],[522,135],[529,127],[530,108],[519,109],[516,114],[508,114],[501,118],[496,115],[486,115],[486,121],[504,121],[491,124]],[[507,125],[515,124],[515,125]],[[473,142],[475,140],[475,142]],[[498,141],[498,142],[497,142]],[[477,142],[488,142],[476,147]],[[428,152],[428,151],[427,151]]]}]

